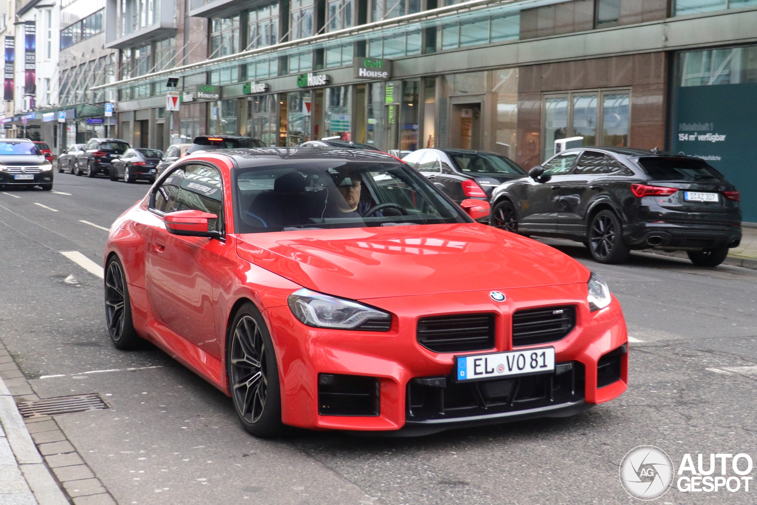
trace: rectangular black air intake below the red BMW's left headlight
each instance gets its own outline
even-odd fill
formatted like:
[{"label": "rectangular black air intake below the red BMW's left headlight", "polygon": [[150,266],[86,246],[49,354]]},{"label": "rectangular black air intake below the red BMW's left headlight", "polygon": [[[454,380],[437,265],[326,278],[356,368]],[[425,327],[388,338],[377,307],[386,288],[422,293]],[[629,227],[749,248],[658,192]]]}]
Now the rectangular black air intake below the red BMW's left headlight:
[{"label": "rectangular black air intake below the red BMW's left headlight", "polygon": [[376,377],[318,375],[318,413],[321,416],[378,416],[380,398]]}]

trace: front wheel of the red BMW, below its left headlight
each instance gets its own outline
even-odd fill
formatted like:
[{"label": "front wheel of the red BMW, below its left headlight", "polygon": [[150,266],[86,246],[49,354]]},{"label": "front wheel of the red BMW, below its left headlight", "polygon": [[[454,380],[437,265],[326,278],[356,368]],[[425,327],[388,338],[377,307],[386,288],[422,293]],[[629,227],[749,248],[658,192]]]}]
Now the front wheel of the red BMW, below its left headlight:
[{"label": "front wheel of the red BMW, below its left headlight", "polygon": [[283,435],[279,366],[266,323],[252,303],[239,308],[229,329],[226,373],[241,426],[258,438]]}]

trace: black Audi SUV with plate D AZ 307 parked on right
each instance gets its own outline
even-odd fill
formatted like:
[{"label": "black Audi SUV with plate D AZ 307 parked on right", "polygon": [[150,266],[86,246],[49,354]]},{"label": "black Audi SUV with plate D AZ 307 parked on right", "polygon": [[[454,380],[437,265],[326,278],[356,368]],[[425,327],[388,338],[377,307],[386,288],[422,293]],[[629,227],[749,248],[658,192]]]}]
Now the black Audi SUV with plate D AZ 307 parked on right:
[{"label": "black Audi SUV with plate D AZ 307 parked on right", "polygon": [[737,189],[706,161],[633,148],[564,151],[492,195],[490,224],[583,242],[600,263],[687,251],[702,267],[741,242]]}]

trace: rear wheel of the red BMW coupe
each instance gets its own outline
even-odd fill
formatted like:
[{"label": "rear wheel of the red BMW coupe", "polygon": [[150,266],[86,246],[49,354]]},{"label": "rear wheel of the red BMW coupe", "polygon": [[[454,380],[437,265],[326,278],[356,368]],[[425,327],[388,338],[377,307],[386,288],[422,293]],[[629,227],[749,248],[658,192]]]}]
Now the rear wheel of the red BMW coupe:
[{"label": "rear wheel of the red BMW coupe", "polygon": [[129,289],[123,265],[117,256],[108,261],[105,267],[105,321],[115,348],[121,351],[136,348],[139,335],[132,323]]}]

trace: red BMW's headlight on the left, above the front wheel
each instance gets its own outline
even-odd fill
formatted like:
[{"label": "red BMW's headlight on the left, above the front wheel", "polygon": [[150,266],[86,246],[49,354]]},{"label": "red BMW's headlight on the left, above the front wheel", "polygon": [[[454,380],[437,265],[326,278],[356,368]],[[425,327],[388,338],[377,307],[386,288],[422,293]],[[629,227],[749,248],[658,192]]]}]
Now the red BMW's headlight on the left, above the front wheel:
[{"label": "red BMW's headlight on the left, above the front wheel", "polygon": [[[342,300],[310,289],[294,291],[287,298],[291,313],[301,323],[316,328],[358,329],[369,320],[391,323],[391,315],[357,301]],[[388,330],[388,328],[387,328]]]}]

